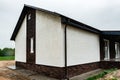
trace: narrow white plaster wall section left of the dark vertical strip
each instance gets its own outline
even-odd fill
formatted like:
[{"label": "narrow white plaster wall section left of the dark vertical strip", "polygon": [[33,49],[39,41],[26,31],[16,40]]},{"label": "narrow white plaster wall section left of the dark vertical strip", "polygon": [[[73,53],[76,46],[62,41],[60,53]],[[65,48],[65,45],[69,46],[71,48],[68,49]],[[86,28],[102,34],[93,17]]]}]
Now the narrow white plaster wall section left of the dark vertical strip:
[{"label": "narrow white plaster wall section left of the dark vertical strip", "polygon": [[15,38],[15,60],[26,62],[26,17]]}]

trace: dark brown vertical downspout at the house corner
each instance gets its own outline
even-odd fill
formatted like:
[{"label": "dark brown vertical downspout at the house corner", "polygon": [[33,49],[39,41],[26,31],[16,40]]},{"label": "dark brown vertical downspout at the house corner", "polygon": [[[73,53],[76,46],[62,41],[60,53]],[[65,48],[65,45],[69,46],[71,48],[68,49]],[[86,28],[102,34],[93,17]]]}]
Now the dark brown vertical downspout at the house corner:
[{"label": "dark brown vertical downspout at the house corner", "polygon": [[64,42],[65,42],[65,78],[69,80],[68,77],[68,69],[67,69],[67,24],[65,24],[64,28]]}]

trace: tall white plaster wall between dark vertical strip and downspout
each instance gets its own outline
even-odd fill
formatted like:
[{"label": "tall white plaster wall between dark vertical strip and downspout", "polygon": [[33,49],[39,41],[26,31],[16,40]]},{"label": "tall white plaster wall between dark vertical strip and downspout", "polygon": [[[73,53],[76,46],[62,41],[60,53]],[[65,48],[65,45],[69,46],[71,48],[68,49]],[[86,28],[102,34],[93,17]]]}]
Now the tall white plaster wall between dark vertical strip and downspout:
[{"label": "tall white plaster wall between dark vertical strip and downspout", "polygon": [[36,64],[64,67],[61,18],[36,11]]}]

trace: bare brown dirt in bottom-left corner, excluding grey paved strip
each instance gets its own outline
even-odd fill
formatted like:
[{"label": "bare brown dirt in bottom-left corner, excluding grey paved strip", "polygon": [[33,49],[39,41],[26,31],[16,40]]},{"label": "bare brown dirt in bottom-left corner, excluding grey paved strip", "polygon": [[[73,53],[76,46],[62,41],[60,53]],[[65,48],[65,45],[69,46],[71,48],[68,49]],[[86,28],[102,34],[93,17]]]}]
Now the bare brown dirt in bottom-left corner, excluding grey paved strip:
[{"label": "bare brown dirt in bottom-left corner, excluding grey paved strip", "polygon": [[30,80],[29,78],[7,68],[15,61],[0,61],[0,80]]}]

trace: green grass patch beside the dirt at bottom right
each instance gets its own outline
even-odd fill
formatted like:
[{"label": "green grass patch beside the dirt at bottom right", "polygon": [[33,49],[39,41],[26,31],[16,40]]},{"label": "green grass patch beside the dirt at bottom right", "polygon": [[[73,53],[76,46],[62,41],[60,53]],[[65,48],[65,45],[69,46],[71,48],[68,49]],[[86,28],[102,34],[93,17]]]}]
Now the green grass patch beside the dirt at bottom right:
[{"label": "green grass patch beside the dirt at bottom right", "polygon": [[104,70],[103,72],[99,73],[98,75],[89,77],[89,78],[87,78],[86,80],[96,80],[96,79],[102,78],[102,77],[104,77],[106,74],[111,73],[111,72],[116,71],[116,70],[117,70],[117,68]]}]

